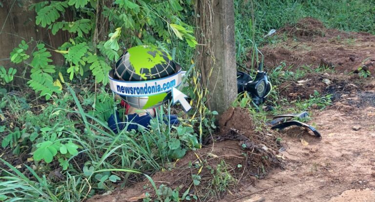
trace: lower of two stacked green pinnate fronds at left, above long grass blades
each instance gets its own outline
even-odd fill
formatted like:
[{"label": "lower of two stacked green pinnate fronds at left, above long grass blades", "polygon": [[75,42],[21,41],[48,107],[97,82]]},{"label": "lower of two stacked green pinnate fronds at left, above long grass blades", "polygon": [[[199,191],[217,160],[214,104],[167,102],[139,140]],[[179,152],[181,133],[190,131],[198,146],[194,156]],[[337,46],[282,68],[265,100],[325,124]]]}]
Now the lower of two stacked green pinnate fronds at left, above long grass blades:
[{"label": "lower of two stacked green pinnate fronds at left, above long grass blades", "polygon": [[34,72],[30,75],[31,80],[27,82],[35,92],[41,91],[41,96],[45,96],[46,100],[49,100],[53,93],[60,93],[58,86],[54,86],[52,77],[47,73],[41,71]]}]

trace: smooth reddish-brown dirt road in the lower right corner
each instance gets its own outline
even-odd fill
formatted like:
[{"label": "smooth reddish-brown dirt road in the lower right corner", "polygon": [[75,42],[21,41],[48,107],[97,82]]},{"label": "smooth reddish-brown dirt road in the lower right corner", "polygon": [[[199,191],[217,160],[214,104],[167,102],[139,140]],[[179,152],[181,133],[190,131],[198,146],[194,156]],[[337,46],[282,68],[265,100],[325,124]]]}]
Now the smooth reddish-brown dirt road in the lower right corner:
[{"label": "smooth reddish-brown dirt road in the lower right corner", "polygon": [[[361,96],[372,95],[371,100]],[[375,202],[375,91],[344,97],[314,120],[323,138],[286,131],[285,170],[243,190],[266,202]],[[350,104],[351,103],[351,104]],[[300,139],[309,142],[303,145]]]}]

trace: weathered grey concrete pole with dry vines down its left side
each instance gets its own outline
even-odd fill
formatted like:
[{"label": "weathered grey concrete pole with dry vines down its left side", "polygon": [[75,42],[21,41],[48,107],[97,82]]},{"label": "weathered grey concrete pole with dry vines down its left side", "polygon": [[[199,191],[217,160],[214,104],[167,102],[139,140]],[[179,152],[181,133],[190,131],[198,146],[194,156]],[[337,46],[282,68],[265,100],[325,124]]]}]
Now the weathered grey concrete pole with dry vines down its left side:
[{"label": "weathered grey concrete pole with dry vines down its left side", "polygon": [[[211,4],[211,14],[208,14]],[[197,35],[199,43],[207,44],[197,49],[197,65],[201,65],[203,81],[208,81],[208,107],[222,114],[237,98],[237,76],[234,41],[233,0],[200,0],[197,10],[201,20],[198,26],[205,37]],[[208,78],[211,67],[213,71]]]}]

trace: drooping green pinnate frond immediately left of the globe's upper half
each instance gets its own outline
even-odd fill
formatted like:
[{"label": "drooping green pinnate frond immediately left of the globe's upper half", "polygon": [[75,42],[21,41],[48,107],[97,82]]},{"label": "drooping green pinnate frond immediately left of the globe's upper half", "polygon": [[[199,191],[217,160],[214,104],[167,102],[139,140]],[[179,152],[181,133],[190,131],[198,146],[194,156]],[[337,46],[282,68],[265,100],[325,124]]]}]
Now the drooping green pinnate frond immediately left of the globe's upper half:
[{"label": "drooping green pinnate frond immediately left of the globe's upper half", "polygon": [[108,83],[108,72],[111,67],[104,61],[103,57],[91,55],[87,58],[87,62],[91,63],[90,70],[95,76],[96,81],[103,82],[104,85]]}]

